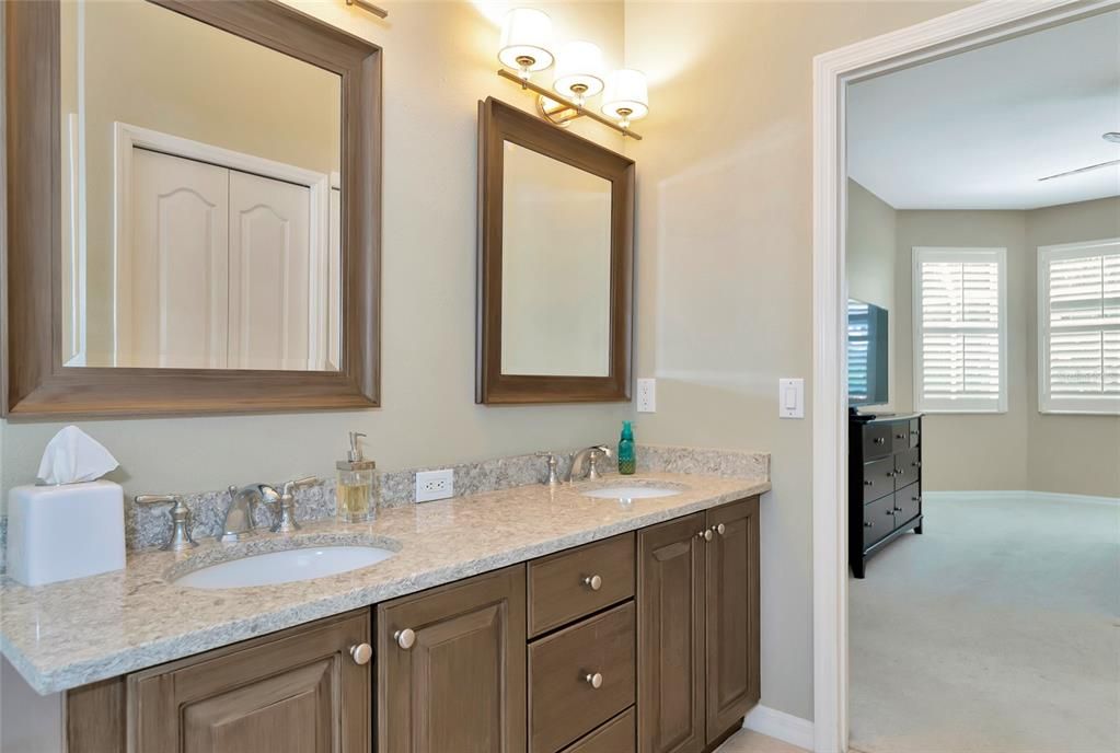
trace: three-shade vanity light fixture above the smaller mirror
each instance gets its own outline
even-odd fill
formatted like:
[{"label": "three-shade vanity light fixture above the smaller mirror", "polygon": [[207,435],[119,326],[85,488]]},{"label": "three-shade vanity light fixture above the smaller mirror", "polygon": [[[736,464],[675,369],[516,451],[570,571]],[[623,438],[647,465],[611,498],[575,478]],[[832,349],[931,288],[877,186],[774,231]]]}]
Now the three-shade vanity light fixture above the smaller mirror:
[{"label": "three-shade vanity light fixture above the smaller mirror", "polygon": [[[497,57],[505,66],[497,75],[532,91],[536,97],[536,112],[554,125],[567,125],[577,117],[590,117],[624,135],[641,140],[631,130],[632,121],[650,112],[650,96],[645,75],[640,70],[623,68],[604,82],[603,50],[590,41],[564,45],[553,60],[548,45],[552,21],[543,12],[531,8],[515,8],[502,23],[502,43]],[[530,78],[532,74],[557,64],[552,91]],[[516,72],[516,73],[512,73]],[[590,97],[606,88],[600,106],[588,105]],[[604,116],[604,113],[606,116]]]}]

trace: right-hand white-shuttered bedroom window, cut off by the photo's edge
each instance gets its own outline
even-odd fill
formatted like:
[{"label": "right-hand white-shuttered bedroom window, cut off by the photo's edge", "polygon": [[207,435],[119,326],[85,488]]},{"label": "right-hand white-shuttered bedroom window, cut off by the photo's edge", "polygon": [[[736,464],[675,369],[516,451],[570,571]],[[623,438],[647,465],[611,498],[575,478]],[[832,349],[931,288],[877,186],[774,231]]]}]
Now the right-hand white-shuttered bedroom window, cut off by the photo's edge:
[{"label": "right-hand white-shuttered bedroom window, cut off by the photo's edge", "polygon": [[1120,238],[1038,250],[1038,410],[1120,413]]}]

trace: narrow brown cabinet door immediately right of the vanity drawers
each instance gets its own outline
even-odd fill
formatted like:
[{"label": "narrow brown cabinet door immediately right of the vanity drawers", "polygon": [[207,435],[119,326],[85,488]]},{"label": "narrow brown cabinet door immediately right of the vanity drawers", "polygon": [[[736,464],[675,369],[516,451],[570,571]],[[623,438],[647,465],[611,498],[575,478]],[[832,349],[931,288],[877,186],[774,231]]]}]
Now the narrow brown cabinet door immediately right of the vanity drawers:
[{"label": "narrow brown cabinet door immediately right of the vanity drawers", "polygon": [[698,753],[704,734],[704,514],[638,534],[638,753]]}]

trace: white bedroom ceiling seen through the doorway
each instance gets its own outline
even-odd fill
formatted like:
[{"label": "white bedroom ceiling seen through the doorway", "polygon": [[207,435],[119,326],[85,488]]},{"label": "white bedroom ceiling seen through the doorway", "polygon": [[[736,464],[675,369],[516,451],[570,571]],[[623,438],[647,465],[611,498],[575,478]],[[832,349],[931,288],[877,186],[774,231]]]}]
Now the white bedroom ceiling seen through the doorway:
[{"label": "white bedroom ceiling seen through the doorway", "polygon": [[896,209],[1035,209],[1120,195],[1120,10],[848,88],[848,171]]}]

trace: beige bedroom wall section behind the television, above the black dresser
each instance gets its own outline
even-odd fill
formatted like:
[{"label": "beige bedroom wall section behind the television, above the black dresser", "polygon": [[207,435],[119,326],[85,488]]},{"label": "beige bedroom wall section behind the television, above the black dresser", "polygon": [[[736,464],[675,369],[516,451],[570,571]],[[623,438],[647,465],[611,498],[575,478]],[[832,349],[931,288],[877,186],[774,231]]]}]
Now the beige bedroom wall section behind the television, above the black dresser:
[{"label": "beige bedroom wall section behind the television, above the black dresser", "polygon": [[[889,348],[899,341],[895,311],[895,208],[848,179],[848,294],[887,310]],[[887,361],[887,395],[895,397],[895,359]],[[888,405],[885,406],[890,407]]]}]

